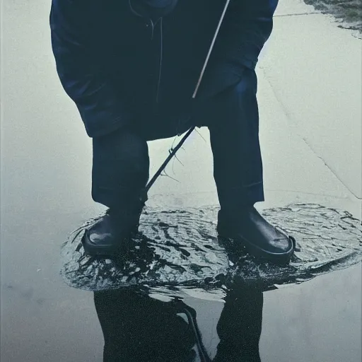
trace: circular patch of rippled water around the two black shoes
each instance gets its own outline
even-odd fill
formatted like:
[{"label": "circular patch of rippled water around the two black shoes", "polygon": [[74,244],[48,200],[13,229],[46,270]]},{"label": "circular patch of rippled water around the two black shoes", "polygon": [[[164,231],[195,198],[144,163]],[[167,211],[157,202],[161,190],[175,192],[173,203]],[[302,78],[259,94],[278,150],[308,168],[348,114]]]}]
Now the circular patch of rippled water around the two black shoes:
[{"label": "circular patch of rippled water around the two black shoes", "polygon": [[146,209],[127,257],[97,259],[84,254],[81,237],[94,218],[74,231],[62,247],[66,284],[89,291],[130,286],[230,287],[301,282],[362,259],[361,221],[347,211],[318,204],[291,204],[261,214],[297,240],[288,266],[235,255],[231,240],[218,240],[218,207],[159,211]]}]

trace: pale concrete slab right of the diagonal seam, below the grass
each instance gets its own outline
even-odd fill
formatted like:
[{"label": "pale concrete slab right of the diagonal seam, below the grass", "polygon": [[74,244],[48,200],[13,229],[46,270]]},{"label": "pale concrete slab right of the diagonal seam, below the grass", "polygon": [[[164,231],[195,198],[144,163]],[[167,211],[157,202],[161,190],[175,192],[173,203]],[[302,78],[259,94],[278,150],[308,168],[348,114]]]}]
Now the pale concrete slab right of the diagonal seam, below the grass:
[{"label": "pale concrete slab right of the diagonal seam, below the grass", "polygon": [[[292,5],[309,14],[288,16]],[[281,1],[259,65],[291,126],[361,199],[362,43],[313,11],[300,0]]]}]

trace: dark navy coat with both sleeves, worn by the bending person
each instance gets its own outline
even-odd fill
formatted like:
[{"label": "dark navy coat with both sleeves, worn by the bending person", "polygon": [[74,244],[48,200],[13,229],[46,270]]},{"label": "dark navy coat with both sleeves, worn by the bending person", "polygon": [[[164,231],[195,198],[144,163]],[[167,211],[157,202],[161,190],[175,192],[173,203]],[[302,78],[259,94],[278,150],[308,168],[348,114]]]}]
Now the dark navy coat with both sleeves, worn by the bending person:
[{"label": "dark navy coat with both sleeves, worn by the bending person", "polygon": [[[57,72],[88,136],[130,124],[154,104],[187,109],[225,2],[179,0],[155,23],[135,16],[128,0],[52,0]],[[277,3],[230,1],[204,84],[222,91],[255,68]]]}]

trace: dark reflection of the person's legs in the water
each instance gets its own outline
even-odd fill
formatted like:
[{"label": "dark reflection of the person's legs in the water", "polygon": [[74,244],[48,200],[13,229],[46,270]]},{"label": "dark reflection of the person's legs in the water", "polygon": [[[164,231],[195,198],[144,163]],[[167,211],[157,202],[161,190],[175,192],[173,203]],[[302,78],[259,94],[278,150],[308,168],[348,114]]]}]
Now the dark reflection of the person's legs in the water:
[{"label": "dark reflection of the person's legs in the water", "polygon": [[256,286],[228,291],[211,360],[196,311],[181,299],[164,302],[130,289],[94,293],[105,339],[104,362],[257,362],[263,294]]}]

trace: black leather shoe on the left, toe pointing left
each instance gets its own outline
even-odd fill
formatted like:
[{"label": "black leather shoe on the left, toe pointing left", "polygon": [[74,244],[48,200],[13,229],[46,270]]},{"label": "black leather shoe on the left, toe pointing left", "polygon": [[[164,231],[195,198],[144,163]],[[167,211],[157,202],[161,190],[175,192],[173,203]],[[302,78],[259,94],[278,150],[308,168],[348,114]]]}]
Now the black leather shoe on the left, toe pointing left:
[{"label": "black leather shoe on the left, toe pointing left", "polygon": [[129,239],[139,228],[142,207],[132,210],[108,209],[105,216],[86,230],[82,243],[86,254],[114,257],[129,249]]}]

